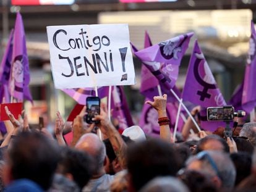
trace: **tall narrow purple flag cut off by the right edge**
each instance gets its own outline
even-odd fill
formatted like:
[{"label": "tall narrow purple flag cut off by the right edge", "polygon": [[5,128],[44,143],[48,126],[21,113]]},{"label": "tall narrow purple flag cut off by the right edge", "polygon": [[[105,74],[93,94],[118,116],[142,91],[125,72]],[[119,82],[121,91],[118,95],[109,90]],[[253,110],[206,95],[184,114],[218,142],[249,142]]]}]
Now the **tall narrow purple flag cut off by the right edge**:
[{"label": "tall narrow purple flag cut off by the right edge", "polygon": [[242,91],[242,108],[247,113],[250,113],[256,106],[256,32],[253,21],[251,22],[251,33]]}]

